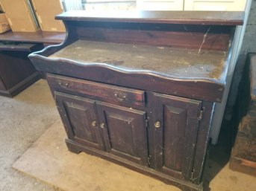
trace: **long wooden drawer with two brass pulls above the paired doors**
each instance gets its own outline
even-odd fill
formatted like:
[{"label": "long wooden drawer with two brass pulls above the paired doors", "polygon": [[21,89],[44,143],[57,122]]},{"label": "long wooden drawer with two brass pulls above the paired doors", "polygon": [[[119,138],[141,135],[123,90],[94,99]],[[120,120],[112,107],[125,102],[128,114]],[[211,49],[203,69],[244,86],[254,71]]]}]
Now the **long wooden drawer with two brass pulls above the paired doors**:
[{"label": "long wooden drawer with two brass pulls above the paired doors", "polygon": [[108,103],[145,106],[145,92],[130,88],[121,88],[115,85],[105,85],[99,82],[78,80],[71,77],[60,77],[47,74],[47,80],[53,91],[85,94],[96,100]]}]

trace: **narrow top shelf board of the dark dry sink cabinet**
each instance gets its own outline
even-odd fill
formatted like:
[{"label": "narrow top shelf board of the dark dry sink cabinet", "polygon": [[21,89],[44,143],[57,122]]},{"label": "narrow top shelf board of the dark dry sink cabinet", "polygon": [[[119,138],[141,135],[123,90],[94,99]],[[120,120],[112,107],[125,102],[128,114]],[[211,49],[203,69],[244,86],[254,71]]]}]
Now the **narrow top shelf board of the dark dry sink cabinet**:
[{"label": "narrow top shelf board of the dark dry sink cabinet", "polygon": [[146,22],[195,25],[243,25],[238,11],[85,11],[61,13],[56,19],[87,22]]}]

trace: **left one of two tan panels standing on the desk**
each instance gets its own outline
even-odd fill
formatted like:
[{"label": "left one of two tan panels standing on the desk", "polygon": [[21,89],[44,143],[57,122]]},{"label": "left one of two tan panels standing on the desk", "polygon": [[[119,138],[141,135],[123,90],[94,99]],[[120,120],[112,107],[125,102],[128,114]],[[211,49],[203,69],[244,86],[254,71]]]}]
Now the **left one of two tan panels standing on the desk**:
[{"label": "left one of two tan panels standing on the desk", "polygon": [[1,6],[13,31],[34,32],[39,29],[28,0],[1,0]]}]

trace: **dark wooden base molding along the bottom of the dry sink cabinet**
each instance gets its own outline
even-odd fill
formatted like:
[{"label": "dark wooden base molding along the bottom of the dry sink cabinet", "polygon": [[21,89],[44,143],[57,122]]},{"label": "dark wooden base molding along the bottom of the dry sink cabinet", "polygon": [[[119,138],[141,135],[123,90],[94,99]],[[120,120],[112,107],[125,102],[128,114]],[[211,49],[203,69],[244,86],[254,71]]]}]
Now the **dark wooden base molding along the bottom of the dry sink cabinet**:
[{"label": "dark wooden base molding along the bottom of the dry sink cabinet", "polygon": [[154,169],[150,169],[147,166],[139,166],[137,164],[131,163],[131,161],[126,161],[123,158],[118,158],[114,155],[111,155],[107,152],[100,151],[98,149],[93,149],[91,147],[87,147],[81,145],[80,143],[75,142],[74,140],[66,139],[66,146],[68,147],[70,152],[74,152],[79,154],[80,152],[85,152],[89,155],[95,155],[97,157],[103,158],[107,161],[113,162],[115,164],[119,164],[121,166],[125,166],[128,169],[132,169],[134,171],[143,173],[144,175],[149,175],[152,178],[157,178],[160,181],[163,181],[166,184],[171,184],[175,187],[178,187],[182,191],[203,191],[207,190],[205,187],[207,185],[199,184],[196,186],[195,184],[190,184],[187,181],[182,181],[177,178],[169,177],[160,172],[155,171]]}]

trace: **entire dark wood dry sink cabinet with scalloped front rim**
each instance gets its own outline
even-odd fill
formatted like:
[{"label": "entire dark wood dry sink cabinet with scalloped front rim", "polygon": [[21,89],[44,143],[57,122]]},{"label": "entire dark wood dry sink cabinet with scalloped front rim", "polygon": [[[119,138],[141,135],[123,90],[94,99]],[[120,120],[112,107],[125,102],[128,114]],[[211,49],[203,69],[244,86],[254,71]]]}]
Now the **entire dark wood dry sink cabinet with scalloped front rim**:
[{"label": "entire dark wood dry sink cabinet with scalloped front rim", "polygon": [[66,40],[31,54],[75,153],[203,190],[208,135],[242,13],[57,16]]}]

